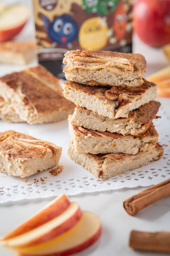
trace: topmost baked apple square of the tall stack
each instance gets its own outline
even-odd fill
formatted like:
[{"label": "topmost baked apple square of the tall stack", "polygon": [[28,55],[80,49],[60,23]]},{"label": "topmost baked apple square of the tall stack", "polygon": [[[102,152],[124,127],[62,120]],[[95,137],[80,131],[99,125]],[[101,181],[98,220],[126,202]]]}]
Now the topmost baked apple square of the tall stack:
[{"label": "topmost baked apple square of the tall stack", "polygon": [[68,51],[63,63],[67,80],[92,86],[140,86],[146,69],[141,54],[102,50]]}]

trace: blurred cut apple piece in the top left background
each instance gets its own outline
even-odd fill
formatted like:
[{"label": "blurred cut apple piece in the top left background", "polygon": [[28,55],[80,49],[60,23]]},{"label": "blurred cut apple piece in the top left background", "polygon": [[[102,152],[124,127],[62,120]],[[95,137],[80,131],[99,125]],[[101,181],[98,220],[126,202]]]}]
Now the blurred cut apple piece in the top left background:
[{"label": "blurred cut apple piece in the top left background", "polygon": [[0,8],[0,42],[16,36],[25,26],[29,10],[25,5],[11,4]]}]

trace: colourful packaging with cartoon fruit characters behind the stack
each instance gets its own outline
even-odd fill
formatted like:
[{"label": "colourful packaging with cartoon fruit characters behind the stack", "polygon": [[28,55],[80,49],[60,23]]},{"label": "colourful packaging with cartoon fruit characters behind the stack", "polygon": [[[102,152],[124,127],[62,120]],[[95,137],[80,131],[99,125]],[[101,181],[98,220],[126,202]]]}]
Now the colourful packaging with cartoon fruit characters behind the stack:
[{"label": "colourful packaging with cartoon fruit characters behind the stack", "polygon": [[133,0],[33,0],[39,62],[63,77],[68,50],[131,52]]}]

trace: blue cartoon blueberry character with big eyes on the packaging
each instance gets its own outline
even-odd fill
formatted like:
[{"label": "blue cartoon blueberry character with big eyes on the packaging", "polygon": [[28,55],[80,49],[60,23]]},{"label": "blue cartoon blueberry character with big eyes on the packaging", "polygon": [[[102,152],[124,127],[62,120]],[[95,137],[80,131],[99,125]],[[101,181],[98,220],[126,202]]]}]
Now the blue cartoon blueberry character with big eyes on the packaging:
[{"label": "blue cartoon blueberry character with big eyes on the packaging", "polygon": [[68,45],[78,36],[77,23],[70,15],[64,14],[52,23],[49,23],[47,17],[43,21],[50,38],[58,44]]}]

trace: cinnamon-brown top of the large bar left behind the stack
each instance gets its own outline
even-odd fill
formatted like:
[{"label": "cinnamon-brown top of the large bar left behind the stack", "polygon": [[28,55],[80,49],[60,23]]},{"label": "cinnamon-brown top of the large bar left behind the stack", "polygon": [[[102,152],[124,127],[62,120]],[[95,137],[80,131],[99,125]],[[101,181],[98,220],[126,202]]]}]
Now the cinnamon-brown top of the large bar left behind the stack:
[{"label": "cinnamon-brown top of the large bar left behind the stack", "polygon": [[14,92],[19,91],[24,105],[38,114],[74,109],[75,105],[64,98],[58,81],[41,65],[0,78]]}]

